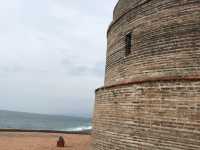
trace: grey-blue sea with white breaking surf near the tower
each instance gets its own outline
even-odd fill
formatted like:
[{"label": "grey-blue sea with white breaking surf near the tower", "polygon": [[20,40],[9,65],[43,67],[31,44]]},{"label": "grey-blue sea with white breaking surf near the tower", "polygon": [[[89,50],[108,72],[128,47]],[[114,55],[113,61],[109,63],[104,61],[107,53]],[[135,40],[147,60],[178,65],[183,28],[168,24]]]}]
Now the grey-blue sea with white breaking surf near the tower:
[{"label": "grey-blue sea with white breaking surf near the tower", "polygon": [[43,115],[0,110],[0,129],[85,131],[91,130],[91,118]]}]

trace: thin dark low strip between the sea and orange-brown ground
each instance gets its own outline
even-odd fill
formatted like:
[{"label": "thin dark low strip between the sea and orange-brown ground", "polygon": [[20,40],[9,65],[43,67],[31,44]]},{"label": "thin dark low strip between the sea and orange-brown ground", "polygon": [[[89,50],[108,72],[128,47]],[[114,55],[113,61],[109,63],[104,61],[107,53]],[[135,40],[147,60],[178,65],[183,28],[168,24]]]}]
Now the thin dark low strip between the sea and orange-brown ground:
[{"label": "thin dark low strip between the sea and orange-brown ground", "polygon": [[79,135],[91,135],[92,130],[83,131],[58,131],[58,130],[29,130],[29,129],[0,129],[1,132],[24,132],[24,133],[60,133],[60,134],[79,134]]}]

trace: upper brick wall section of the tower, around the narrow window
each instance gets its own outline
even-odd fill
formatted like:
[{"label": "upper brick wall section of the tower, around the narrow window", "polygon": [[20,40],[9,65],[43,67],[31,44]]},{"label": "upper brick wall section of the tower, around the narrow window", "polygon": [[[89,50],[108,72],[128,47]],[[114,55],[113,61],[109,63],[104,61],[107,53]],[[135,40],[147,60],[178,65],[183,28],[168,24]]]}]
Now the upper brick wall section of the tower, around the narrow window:
[{"label": "upper brick wall section of the tower, around the narrow window", "polygon": [[[199,0],[150,0],[129,9],[108,30],[105,85],[200,77],[199,24]],[[124,38],[130,31],[132,54],[125,57]]]}]

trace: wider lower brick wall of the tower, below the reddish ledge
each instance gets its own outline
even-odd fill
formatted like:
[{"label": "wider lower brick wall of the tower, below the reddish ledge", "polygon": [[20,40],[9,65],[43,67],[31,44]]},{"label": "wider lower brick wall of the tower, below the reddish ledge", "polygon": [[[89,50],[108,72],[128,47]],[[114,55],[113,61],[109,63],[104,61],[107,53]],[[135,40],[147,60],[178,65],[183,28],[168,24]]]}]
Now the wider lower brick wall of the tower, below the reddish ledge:
[{"label": "wider lower brick wall of the tower, below the reddish ledge", "polygon": [[96,92],[93,150],[199,150],[200,81]]}]

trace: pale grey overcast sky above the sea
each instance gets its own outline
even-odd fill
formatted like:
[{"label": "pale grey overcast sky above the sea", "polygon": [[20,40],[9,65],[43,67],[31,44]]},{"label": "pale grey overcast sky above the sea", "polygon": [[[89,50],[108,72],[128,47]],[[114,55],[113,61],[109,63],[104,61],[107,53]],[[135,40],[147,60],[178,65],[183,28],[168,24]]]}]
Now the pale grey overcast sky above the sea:
[{"label": "pale grey overcast sky above the sea", "polygon": [[90,116],[117,0],[0,0],[0,109]]}]

